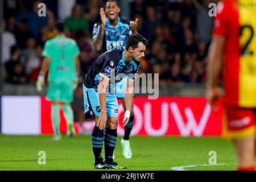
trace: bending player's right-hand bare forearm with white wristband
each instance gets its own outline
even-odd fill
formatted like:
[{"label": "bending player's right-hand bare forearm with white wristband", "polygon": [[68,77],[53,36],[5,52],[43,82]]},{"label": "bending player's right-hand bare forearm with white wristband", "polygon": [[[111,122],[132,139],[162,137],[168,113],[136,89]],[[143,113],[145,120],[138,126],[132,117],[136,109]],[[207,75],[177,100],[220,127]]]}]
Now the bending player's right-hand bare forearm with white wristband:
[{"label": "bending player's right-hand bare forearm with white wristband", "polygon": [[129,80],[127,81],[126,86],[126,94],[125,94],[125,100],[126,100],[126,111],[125,111],[125,117],[123,118],[123,127],[127,125],[130,119],[130,113],[133,109],[133,94],[134,94],[134,81]]}]

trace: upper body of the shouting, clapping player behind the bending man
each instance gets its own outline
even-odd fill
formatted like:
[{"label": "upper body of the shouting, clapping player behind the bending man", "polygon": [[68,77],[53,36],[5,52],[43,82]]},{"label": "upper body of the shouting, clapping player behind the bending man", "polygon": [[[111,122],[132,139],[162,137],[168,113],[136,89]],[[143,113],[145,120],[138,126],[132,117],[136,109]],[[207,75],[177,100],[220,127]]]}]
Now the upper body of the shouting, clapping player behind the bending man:
[{"label": "upper body of the shouting, clapping player behind the bending man", "polygon": [[[131,34],[137,34],[138,18],[135,21],[122,19],[118,1],[106,2],[106,10],[100,9],[101,22],[93,26],[94,48],[101,53],[112,49],[125,49],[125,43]],[[108,18],[106,18],[108,17]]]}]

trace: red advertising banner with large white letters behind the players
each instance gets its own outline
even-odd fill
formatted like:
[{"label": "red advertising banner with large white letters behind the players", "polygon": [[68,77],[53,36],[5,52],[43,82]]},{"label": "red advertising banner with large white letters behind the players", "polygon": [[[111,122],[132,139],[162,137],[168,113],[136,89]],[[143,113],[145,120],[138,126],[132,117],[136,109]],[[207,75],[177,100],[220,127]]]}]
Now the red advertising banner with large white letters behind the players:
[{"label": "red advertising banner with large white letters behind the players", "polygon": [[[123,108],[119,103],[118,134],[123,134]],[[203,97],[148,97],[134,98],[134,126],[132,135],[150,136],[220,136],[222,107],[213,113]],[[52,134],[51,102],[42,98],[42,134]],[[77,126],[77,125],[75,125]],[[93,123],[88,125],[93,129]],[[65,133],[67,125],[61,111],[60,131]],[[77,131],[77,127],[76,127]]]}]

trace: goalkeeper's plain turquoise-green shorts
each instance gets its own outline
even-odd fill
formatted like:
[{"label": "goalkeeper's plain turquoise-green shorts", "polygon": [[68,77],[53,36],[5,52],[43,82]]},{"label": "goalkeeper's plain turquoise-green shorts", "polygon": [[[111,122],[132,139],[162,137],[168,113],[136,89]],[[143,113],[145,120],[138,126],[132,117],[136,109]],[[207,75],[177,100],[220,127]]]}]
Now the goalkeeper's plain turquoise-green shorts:
[{"label": "goalkeeper's plain turquoise-green shorts", "polygon": [[49,82],[46,98],[53,102],[72,102],[74,96],[73,83],[70,82]]}]

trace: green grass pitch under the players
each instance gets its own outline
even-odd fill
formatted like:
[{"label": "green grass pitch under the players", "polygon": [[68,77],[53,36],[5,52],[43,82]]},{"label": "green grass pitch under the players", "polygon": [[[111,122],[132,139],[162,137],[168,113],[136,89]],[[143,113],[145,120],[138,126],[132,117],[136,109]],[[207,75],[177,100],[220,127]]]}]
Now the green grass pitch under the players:
[{"label": "green grass pitch under the players", "polygon": [[[131,137],[133,158],[122,155],[118,137],[115,161],[128,170],[172,170],[172,167],[193,166],[186,170],[234,170],[236,155],[232,142],[215,137]],[[39,151],[46,152],[46,164],[39,165]],[[209,166],[209,152],[216,151],[217,164]],[[104,150],[102,149],[102,156]],[[94,170],[90,136],[69,139],[63,136],[53,141],[52,136],[0,135],[0,170]]]}]

